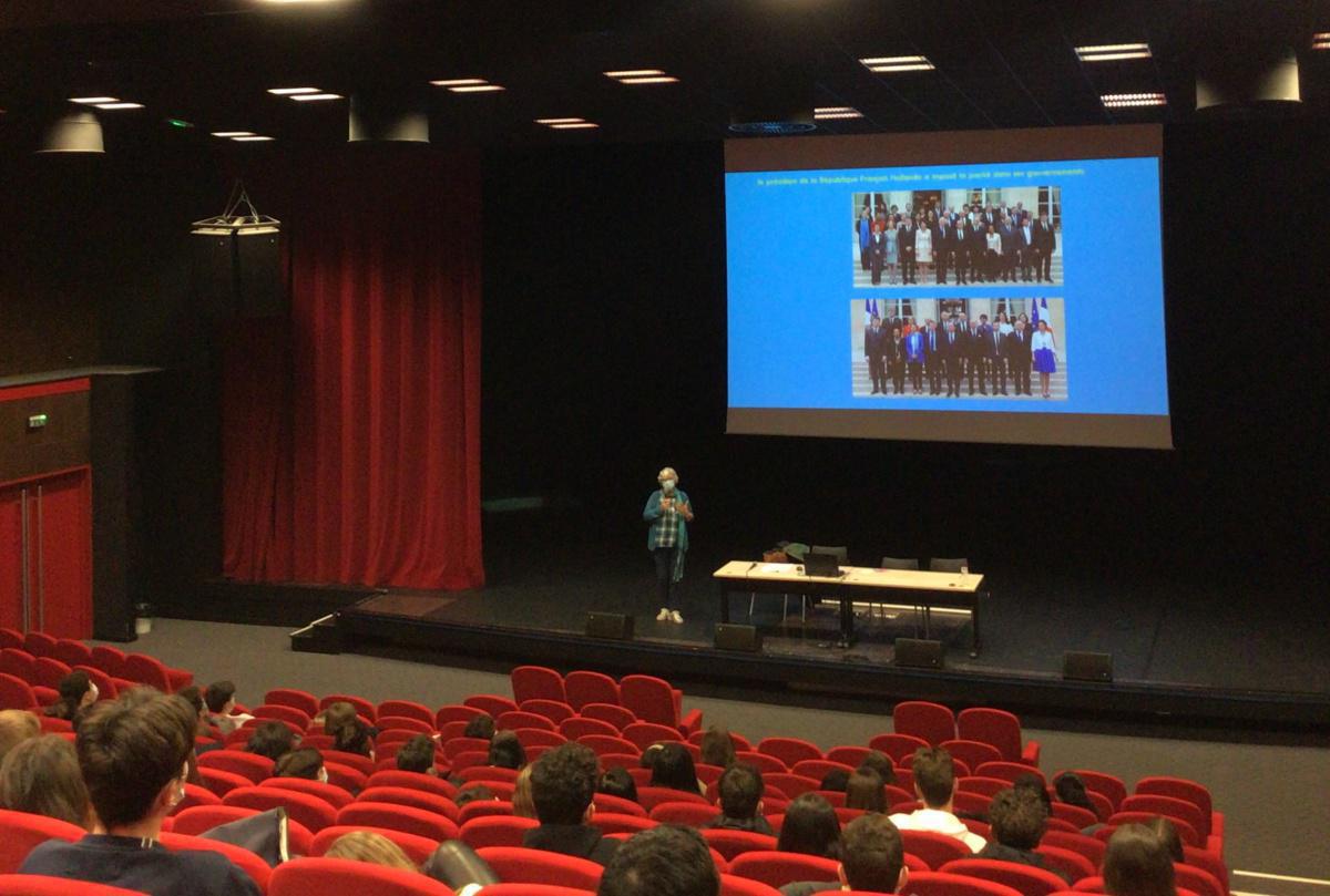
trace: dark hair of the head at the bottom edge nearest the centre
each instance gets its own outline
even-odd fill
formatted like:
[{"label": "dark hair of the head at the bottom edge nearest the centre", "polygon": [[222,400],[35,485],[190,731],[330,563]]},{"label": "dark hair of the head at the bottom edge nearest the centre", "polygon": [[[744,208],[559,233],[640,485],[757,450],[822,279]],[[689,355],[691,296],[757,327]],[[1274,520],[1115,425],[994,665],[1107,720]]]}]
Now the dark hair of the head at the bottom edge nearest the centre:
[{"label": "dark hair of the head at the bottom edge nearest the centre", "polygon": [[605,865],[597,896],[718,896],[721,876],[697,831],[660,824],[633,835]]}]

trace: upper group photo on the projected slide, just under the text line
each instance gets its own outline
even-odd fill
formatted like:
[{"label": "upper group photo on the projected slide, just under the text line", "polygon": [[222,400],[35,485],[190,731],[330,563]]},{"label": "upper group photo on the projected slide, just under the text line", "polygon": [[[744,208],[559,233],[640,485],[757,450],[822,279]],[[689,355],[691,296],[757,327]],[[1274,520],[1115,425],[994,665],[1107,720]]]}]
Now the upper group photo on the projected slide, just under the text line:
[{"label": "upper group photo on the projected slide, just under the text line", "polygon": [[854,193],[854,286],[1063,283],[1061,189]]}]

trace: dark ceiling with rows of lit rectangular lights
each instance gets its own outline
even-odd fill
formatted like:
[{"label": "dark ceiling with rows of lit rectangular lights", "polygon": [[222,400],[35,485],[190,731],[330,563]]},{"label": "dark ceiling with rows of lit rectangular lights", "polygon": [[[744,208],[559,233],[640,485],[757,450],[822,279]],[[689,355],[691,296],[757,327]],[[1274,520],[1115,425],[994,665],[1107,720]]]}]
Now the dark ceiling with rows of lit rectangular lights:
[{"label": "dark ceiling with rows of lit rectangular lights", "polygon": [[[7,0],[0,7],[0,137],[70,96],[145,104],[117,132],[254,130],[339,141],[346,101],[266,93],[418,90],[435,142],[480,145],[717,140],[755,94],[853,106],[822,133],[1180,121],[1194,69],[1282,44],[1301,62],[1303,114],[1330,110],[1326,0]],[[1079,44],[1149,43],[1148,60],[1083,64]],[[924,55],[931,72],[875,74],[864,56]],[[606,69],[660,68],[678,84],[625,86]],[[431,78],[483,77],[456,94]],[[1162,92],[1164,108],[1107,110],[1101,93]],[[596,130],[555,132],[543,117]],[[8,132],[8,133],[7,133]]]}]

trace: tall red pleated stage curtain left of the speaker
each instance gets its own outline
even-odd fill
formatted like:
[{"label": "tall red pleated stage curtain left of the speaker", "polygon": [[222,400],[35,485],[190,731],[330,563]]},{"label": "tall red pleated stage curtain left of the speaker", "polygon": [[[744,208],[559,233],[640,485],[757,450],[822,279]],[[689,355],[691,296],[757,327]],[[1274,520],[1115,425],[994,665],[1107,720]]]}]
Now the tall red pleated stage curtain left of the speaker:
[{"label": "tall red pleated stage curtain left of the speaker", "polygon": [[479,161],[411,149],[285,185],[289,343],[274,328],[227,364],[227,576],[484,582]]}]

